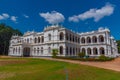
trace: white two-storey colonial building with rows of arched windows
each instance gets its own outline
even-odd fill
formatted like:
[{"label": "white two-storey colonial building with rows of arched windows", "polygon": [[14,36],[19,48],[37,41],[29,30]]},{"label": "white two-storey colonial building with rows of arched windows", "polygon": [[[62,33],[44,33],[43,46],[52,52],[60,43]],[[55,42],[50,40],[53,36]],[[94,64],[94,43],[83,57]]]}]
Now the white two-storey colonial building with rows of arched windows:
[{"label": "white two-storey colonial building with rows of arched windows", "polygon": [[116,57],[117,43],[110,30],[74,33],[64,27],[53,25],[43,32],[26,32],[23,36],[12,36],[10,56],[52,56],[52,49],[59,50],[59,56],[77,56],[84,52],[89,56],[105,55]]}]

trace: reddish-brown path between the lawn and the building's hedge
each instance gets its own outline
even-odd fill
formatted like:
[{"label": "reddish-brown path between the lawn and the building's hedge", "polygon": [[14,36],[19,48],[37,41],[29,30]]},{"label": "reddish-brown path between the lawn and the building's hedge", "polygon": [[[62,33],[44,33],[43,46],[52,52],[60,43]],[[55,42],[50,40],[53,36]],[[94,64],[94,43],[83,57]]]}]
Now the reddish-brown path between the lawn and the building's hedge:
[{"label": "reddish-brown path between the lawn and the building's hedge", "polygon": [[104,69],[110,69],[110,70],[114,70],[114,71],[120,71],[120,58],[116,58],[113,61],[107,61],[107,62],[89,62],[89,61],[82,62],[82,61],[54,59],[54,58],[41,58],[41,59],[54,60],[54,61],[64,61],[64,62],[69,62],[69,63],[74,63],[74,64],[83,64],[83,65],[104,68]]}]

